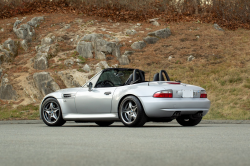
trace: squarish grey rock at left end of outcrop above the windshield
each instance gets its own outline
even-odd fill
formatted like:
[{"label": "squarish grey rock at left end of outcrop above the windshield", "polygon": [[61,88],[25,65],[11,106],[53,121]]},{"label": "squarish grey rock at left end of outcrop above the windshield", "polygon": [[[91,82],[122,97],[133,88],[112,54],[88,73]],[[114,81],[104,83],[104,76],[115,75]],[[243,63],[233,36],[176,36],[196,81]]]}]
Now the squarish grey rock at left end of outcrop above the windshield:
[{"label": "squarish grey rock at left end of outcrop above the windshield", "polygon": [[84,58],[93,58],[93,46],[91,42],[80,41],[77,44],[76,51],[80,54],[80,56]]}]

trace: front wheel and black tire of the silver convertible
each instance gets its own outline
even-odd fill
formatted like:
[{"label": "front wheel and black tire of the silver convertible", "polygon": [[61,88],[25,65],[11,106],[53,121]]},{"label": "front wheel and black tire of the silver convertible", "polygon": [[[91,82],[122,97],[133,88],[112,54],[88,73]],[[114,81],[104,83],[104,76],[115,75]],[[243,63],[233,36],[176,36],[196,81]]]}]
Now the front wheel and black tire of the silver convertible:
[{"label": "front wheel and black tire of the silver convertible", "polygon": [[60,104],[54,98],[48,98],[43,102],[41,107],[41,115],[43,122],[48,126],[62,126],[66,122],[62,118],[62,111]]}]

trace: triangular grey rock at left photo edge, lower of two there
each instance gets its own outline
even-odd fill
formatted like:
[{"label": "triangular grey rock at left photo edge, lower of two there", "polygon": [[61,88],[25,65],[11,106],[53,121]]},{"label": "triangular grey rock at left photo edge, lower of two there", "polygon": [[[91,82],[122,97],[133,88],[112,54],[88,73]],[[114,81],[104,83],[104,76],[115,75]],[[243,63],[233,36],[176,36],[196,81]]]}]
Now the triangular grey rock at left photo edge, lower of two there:
[{"label": "triangular grey rock at left photo edge, lower of two there", "polygon": [[0,86],[0,99],[2,100],[16,100],[17,93],[13,86],[9,84],[9,80],[7,78],[7,74],[5,74],[2,78],[1,86]]}]

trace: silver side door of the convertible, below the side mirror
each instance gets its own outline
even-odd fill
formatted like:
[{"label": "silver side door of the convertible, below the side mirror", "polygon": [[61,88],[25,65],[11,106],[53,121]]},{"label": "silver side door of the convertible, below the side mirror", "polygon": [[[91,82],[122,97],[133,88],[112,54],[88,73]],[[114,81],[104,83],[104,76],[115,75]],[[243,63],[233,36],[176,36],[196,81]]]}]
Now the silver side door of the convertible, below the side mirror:
[{"label": "silver side door of the convertible, below the side mirror", "polygon": [[75,102],[80,114],[110,113],[112,97],[116,87],[82,88],[77,92]]}]

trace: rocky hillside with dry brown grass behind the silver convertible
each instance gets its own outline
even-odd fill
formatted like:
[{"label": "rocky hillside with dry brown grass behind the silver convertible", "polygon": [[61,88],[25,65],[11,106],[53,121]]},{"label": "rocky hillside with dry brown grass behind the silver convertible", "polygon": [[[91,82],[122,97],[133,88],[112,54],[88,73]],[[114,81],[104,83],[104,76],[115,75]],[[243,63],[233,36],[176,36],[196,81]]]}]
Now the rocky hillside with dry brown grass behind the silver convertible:
[{"label": "rocky hillside with dry brown grass behind the silver convertible", "polygon": [[[213,24],[199,21],[166,24],[156,20],[160,24],[156,26],[152,21],[117,23],[96,17],[45,14],[31,27],[34,35],[29,39],[18,37],[17,30],[13,29],[16,19],[23,20],[22,26],[39,16],[0,20],[3,49],[8,38],[16,46],[16,51],[5,48],[12,51],[9,60],[1,59],[6,53],[0,51],[1,86],[11,85],[8,92],[13,92],[9,99],[0,100],[0,120],[38,118],[37,105],[48,91],[44,85],[38,84],[40,77],[46,79],[50,91],[53,91],[82,85],[100,69],[117,65],[144,70],[147,80],[152,80],[154,73],[165,69],[172,80],[205,88],[212,103],[206,119],[250,119],[248,30],[219,31]],[[148,33],[165,28],[171,30],[169,37],[160,38],[155,44],[147,44],[142,49],[131,48],[134,42],[143,41]],[[92,54],[76,49],[79,41],[89,34],[103,34],[100,43],[105,40],[115,45],[112,52],[106,47],[106,51],[95,50]],[[23,45],[24,40],[28,41],[27,46]],[[85,44],[82,47],[85,48]],[[49,51],[44,51],[46,49]],[[40,61],[44,57],[47,63]],[[87,71],[88,67],[90,71]],[[48,73],[43,77],[41,72]]]}]

